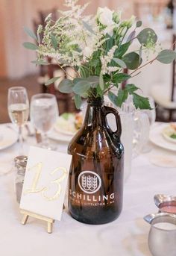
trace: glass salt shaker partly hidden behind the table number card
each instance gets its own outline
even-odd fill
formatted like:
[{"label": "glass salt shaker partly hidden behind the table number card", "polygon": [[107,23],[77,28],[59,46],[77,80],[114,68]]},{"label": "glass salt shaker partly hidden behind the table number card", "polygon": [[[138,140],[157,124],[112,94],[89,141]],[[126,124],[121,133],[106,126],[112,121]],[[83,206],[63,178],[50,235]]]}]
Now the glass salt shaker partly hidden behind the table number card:
[{"label": "glass salt shaker partly hidden behind the table number card", "polygon": [[25,178],[25,168],[28,161],[28,157],[25,155],[20,155],[15,157],[15,167],[16,167],[16,178],[15,178],[15,189],[16,189],[16,201],[20,203],[22,196],[22,186]]}]

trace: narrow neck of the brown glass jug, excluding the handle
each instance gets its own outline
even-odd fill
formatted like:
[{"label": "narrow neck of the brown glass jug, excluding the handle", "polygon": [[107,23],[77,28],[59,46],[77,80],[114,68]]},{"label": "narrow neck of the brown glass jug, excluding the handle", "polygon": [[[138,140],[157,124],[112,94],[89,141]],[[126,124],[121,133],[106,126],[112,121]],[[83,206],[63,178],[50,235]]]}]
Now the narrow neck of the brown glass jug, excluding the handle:
[{"label": "narrow neck of the brown glass jug, excluding the handle", "polygon": [[103,105],[104,99],[101,97],[92,97],[87,100],[87,112],[84,119],[85,126],[92,126],[92,128],[104,126],[104,113],[102,110]]}]

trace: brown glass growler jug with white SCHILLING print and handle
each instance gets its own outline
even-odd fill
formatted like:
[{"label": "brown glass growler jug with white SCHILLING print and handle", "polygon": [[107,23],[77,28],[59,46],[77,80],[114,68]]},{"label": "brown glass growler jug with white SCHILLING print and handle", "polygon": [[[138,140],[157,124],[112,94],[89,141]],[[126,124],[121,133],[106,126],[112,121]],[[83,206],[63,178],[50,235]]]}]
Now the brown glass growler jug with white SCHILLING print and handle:
[{"label": "brown glass growler jug with white SCHILLING print and handle", "polygon": [[[107,123],[116,117],[117,131]],[[103,99],[88,99],[84,124],[69,143],[69,212],[87,224],[112,222],[122,211],[124,149],[119,113]]]}]

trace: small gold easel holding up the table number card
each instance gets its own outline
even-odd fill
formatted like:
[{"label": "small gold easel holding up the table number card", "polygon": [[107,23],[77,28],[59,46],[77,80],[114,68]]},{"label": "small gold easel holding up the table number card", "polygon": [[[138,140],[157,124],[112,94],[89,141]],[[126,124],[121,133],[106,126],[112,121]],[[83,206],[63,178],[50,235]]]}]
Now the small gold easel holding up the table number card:
[{"label": "small gold easel holding up the table number card", "polygon": [[42,219],[44,220],[45,222],[47,222],[47,232],[49,234],[52,233],[52,226],[53,226],[53,223],[54,223],[54,219],[51,219],[51,218],[48,218],[48,217],[45,217],[45,216],[41,216],[37,213],[31,213],[30,211],[28,210],[20,210],[20,213],[23,214],[23,217],[22,217],[22,225],[25,225],[26,222],[28,221],[28,217],[31,216],[31,217],[34,217],[36,219]]}]

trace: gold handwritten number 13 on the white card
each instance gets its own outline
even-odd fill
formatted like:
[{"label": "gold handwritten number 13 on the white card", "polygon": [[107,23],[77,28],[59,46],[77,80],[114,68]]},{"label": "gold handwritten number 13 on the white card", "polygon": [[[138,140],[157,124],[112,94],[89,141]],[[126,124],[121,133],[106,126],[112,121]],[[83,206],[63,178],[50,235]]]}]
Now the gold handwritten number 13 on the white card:
[{"label": "gold handwritten number 13 on the white card", "polygon": [[54,196],[46,195],[46,192],[50,189],[51,185],[48,185],[48,187],[37,188],[37,184],[40,180],[40,175],[41,175],[42,169],[43,169],[43,163],[37,163],[35,166],[28,169],[29,171],[35,170],[36,174],[34,175],[34,179],[32,181],[31,188],[28,190],[25,190],[25,195],[28,193],[42,193],[42,196],[45,200],[52,201],[52,200],[58,199],[58,197],[60,196],[60,193],[61,193],[60,182],[62,182],[66,178],[66,175],[67,175],[66,168],[57,167],[50,173],[50,175],[54,175],[55,172],[60,172],[60,171],[62,173],[60,175],[60,178],[57,178],[54,181],[51,181],[51,184],[57,185],[57,192],[54,193]]}]

